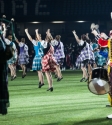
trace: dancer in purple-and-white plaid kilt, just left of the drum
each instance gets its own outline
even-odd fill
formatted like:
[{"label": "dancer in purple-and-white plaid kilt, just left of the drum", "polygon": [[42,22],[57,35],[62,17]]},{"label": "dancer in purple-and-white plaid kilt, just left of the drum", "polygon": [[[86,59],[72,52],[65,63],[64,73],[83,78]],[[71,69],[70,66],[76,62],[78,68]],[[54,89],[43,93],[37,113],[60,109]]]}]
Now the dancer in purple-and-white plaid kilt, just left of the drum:
[{"label": "dancer in purple-and-white plaid kilt, just left of the drum", "polygon": [[[90,45],[86,42],[88,39],[88,36],[86,35],[88,34],[86,35],[83,34],[81,36],[81,39],[78,38],[75,31],[73,31],[73,34],[79,46],[81,47],[80,55],[77,57],[77,60],[76,60],[76,66],[79,67],[81,65],[81,68],[84,74],[83,77],[85,77],[86,78],[85,81],[87,81],[88,75],[90,75],[92,71],[91,65],[95,63],[94,54],[92,52]],[[88,67],[88,75],[87,75],[87,71],[85,70],[86,66]],[[83,80],[84,78],[81,79],[81,81]]]}]

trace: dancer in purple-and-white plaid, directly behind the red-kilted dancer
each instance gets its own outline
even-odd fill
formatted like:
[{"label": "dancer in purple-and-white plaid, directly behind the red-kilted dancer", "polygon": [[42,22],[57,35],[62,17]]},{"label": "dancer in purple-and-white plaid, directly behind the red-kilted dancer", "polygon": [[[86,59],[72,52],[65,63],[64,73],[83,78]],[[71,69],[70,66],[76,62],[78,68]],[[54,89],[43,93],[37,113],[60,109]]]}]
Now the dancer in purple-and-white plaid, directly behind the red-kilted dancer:
[{"label": "dancer in purple-and-white plaid, directly behind the red-kilted dancer", "polygon": [[[56,35],[55,39],[51,41],[51,44],[53,45],[54,47],[54,57],[56,59],[56,61],[58,62],[59,64],[59,70],[60,68],[62,68],[63,66],[63,62],[64,62],[64,58],[65,58],[65,54],[64,54],[64,46],[63,46],[63,43],[61,42],[60,40],[61,36],[60,35]],[[60,70],[61,72],[61,70]],[[55,77],[57,75],[57,71],[55,70]],[[61,73],[61,78],[62,78],[62,73]],[[60,79],[57,79],[57,81],[59,81]]]}]

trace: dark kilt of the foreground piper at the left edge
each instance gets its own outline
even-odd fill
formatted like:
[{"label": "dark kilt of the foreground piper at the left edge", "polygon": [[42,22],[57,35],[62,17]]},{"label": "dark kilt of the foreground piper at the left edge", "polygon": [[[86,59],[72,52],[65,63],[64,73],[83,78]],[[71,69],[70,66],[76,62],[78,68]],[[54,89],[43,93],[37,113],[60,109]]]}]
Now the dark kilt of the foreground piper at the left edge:
[{"label": "dark kilt of the foreground piper at the left edge", "polygon": [[4,62],[0,63],[0,114],[7,114],[8,104],[8,66],[7,62]]}]

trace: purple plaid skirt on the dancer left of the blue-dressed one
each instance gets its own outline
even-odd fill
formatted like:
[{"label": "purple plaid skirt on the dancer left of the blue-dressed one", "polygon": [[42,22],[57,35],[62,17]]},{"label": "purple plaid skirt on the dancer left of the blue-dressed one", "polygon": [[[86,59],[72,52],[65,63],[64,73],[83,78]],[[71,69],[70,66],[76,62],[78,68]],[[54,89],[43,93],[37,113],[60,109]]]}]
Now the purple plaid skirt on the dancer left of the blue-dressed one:
[{"label": "purple plaid skirt on the dancer left of the blue-dressed one", "polygon": [[29,63],[29,56],[25,53],[20,53],[18,57],[18,64],[28,64]]}]

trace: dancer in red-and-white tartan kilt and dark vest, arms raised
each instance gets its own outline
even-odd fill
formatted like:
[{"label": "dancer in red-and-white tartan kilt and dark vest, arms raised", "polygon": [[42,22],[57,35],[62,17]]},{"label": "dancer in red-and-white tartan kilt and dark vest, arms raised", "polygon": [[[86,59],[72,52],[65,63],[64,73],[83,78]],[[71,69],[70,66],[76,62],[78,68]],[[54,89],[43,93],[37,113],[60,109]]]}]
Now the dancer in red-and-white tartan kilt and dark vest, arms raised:
[{"label": "dancer in red-and-white tartan kilt and dark vest, arms raised", "polygon": [[[57,70],[59,72],[59,64],[53,57],[54,54],[54,48],[51,45],[51,40],[53,40],[50,29],[47,30],[46,32],[46,39],[45,41],[42,41],[42,46],[43,46],[43,52],[44,56],[42,57],[42,71],[45,72],[49,88],[47,91],[53,91],[53,80],[52,80],[52,75],[51,72],[54,72]],[[60,73],[59,73],[60,74]],[[58,76],[60,79],[61,76]]]}]

